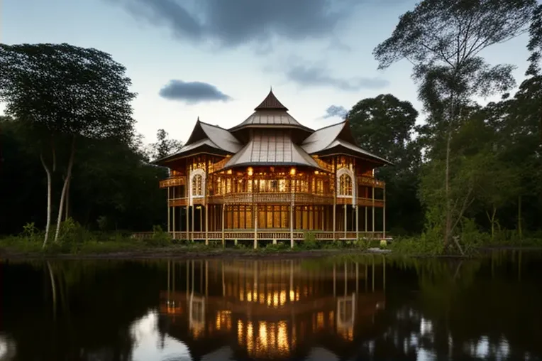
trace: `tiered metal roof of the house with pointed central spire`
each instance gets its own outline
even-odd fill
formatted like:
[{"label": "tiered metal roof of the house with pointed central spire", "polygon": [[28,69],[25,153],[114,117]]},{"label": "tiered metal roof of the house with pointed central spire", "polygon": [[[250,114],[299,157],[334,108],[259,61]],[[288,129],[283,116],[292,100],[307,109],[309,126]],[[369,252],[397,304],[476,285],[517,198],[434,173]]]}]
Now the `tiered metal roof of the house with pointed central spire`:
[{"label": "tiered metal roof of the house with pointed central spire", "polygon": [[[238,166],[309,166],[319,168],[312,156],[350,154],[380,164],[391,164],[360,148],[352,136],[348,120],[316,131],[303,126],[288,113],[272,90],[244,122],[223,129],[201,122],[177,153],[157,160],[164,164],[194,153],[231,155],[225,168]],[[302,141],[297,141],[302,136]],[[245,139],[245,141],[240,141]]]}]

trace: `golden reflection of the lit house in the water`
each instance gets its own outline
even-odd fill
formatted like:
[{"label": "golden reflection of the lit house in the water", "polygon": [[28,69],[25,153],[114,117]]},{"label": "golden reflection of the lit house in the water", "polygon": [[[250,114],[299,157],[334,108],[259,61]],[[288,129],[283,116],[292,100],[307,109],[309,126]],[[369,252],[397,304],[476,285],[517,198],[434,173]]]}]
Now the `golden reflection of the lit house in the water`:
[{"label": "golden reflection of the lit house in the water", "polygon": [[309,355],[314,344],[341,353],[354,347],[356,333],[372,325],[385,306],[385,271],[377,268],[310,270],[299,261],[170,263],[169,287],[160,293],[160,330],[186,343],[194,360],[224,346],[238,360]]}]

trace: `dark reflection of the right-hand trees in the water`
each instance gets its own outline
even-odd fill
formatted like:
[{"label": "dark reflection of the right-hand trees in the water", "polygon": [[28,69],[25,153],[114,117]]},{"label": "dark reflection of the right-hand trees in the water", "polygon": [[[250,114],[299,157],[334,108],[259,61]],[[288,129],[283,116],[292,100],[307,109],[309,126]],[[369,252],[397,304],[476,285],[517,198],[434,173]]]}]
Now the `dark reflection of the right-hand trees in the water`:
[{"label": "dark reflection of the right-hand trees in the water", "polygon": [[416,360],[421,353],[438,360],[526,360],[542,355],[539,273],[528,280],[523,266],[525,281],[518,282],[521,267],[502,254],[483,261],[388,264],[416,269],[419,289],[409,301],[388,303],[380,318],[382,334],[364,343],[367,357]]}]

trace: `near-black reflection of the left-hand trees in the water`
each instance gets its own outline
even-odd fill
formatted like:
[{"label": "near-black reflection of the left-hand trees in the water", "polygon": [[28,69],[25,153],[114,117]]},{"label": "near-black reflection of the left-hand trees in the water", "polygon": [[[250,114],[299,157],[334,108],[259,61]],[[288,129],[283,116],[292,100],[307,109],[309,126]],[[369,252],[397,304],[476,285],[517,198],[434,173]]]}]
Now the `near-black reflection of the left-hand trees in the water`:
[{"label": "near-black reflection of the left-hand trees in the water", "polygon": [[51,261],[55,308],[48,265],[10,262],[3,291],[14,296],[4,298],[2,326],[16,340],[17,360],[129,360],[130,325],[156,306],[158,266]]}]

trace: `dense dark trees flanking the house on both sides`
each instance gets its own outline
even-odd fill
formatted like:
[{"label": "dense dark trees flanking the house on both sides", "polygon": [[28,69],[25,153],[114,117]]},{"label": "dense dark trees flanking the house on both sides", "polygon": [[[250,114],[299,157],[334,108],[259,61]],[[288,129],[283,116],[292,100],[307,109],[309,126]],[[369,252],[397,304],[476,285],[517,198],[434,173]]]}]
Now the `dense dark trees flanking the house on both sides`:
[{"label": "dense dark trees flanking the house on both sides", "polygon": [[[542,5],[534,0],[424,0],[375,48],[380,68],[403,59],[413,64],[424,105],[414,109],[384,94],[360,100],[347,115],[360,146],[394,163],[377,171],[387,182],[394,237],[421,234],[412,244],[424,244],[423,253],[541,238],[541,24]],[[522,33],[529,68],[514,88],[515,66],[489,65],[480,51]],[[135,95],[123,66],[67,44],[2,45],[0,55],[0,96],[9,114],[0,119],[0,234],[21,232],[29,222],[45,228],[51,213],[90,230],[163,227],[165,193],[157,183],[167,170],[150,158],[181,144],[162,129],[150,146],[134,135]],[[69,88],[58,85],[62,74]],[[100,86],[91,90],[87,82]],[[475,101],[489,94],[502,100]],[[92,112],[108,102],[116,107]],[[48,207],[51,198],[60,202]]]}]

